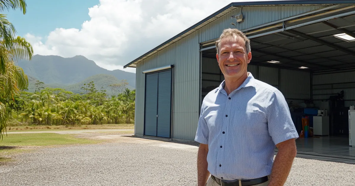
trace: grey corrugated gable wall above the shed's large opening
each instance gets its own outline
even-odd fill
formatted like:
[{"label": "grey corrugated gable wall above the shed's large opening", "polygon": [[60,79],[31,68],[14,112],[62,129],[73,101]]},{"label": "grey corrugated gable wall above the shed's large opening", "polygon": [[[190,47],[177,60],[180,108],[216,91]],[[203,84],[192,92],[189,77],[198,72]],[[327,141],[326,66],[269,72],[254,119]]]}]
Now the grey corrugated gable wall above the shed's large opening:
[{"label": "grey corrugated gable wall above the shed's large opening", "polygon": [[[243,7],[238,8],[225,16],[219,18],[217,21],[208,24],[200,30],[200,42],[216,39],[219,37],[223,29],[237,28],[240,30],[259,26],[261,24],[277,21],[287,17],[299,15],[301,13],[317,10],[323,7],[320,6],[294,6],[294,7]],[[236,23],[235,26],[231,25],[232,15],[239,15],[243,13],[245,21],[243,23]]]}]

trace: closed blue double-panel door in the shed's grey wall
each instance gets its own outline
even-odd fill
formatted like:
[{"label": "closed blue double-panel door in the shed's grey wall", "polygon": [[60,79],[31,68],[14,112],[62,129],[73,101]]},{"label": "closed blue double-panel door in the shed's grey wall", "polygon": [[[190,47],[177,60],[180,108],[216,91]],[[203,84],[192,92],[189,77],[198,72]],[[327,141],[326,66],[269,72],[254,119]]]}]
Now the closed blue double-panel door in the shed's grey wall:
[{"label": "closed blue double-panel door in the shed's grey wall", "polygon": [[170,137],[171,70],[146,75],[144,135]]}]

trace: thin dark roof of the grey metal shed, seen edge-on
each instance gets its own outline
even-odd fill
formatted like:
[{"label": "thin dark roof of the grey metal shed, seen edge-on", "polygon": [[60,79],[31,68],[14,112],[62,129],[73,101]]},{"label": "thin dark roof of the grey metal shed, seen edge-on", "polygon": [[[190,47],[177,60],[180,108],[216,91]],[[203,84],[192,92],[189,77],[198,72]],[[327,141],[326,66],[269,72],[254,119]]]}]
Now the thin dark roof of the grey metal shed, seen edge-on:
[{"label": "thin dark roof of the grey metal shed, seen edge-on", "polygon": [[216,19],[226,15],[227,13],[233,11],[238,7],[260,7],[260,6],[320,6],[320,5],[337,5],[337,4],[351,4],[354,0],[276,0],[276,1],[249,1],[249,2],[232,2],[222,9],[214,12],[212,15],[204,18],[200,22],[194,24],[193,26],[187,28],[181,33],[175,35],[173,38],[165,41],[154,49],[144,53],[142,56],[136,58],[130,63],[126,64],[124,68],[136,67],[136,64],[143,61],[144,59],[154,55],[155,53],[163,50],[164,48],[176,43],[177,41],[185,38],[186,36],[192,34],[198,29],[206,26],[207,24],[215,21]]}]

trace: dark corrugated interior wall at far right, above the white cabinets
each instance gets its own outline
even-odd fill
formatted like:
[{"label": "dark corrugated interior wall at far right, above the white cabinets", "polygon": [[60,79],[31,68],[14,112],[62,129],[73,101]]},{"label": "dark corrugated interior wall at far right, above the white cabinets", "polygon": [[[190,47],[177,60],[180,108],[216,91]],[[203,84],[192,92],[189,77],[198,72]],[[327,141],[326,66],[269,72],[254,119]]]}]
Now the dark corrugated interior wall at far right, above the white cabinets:
[{"label": "dark corrugated interior wall at far right, above the white cabinets", "polygon": [[313,99],[328,99],[344,91],[345,107],[355,105],[355,71],[313,75]]}]

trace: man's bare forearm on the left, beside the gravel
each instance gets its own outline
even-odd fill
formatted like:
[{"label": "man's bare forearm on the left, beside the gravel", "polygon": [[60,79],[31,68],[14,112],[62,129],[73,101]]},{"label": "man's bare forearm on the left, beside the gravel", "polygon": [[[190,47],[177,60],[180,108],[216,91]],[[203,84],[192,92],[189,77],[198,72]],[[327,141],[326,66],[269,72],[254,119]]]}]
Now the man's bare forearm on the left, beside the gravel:
[{"label": "man's bare forearm on the left, beside the gravel", "polygon": [[197,153],[197,185],[206,186],[209,172],[207,170],[208,145],[200,143]]}]

